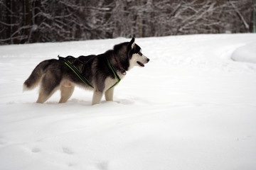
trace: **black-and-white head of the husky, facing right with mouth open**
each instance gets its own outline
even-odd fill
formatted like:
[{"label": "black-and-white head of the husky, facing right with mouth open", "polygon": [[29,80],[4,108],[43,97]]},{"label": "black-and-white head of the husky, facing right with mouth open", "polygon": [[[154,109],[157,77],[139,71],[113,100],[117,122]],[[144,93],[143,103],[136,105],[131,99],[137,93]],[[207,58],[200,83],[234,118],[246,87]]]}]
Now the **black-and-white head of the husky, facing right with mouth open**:
[{"label": "black-and-white head of the husky, facing right with mouth open", "polygon": [[129,69],[134,66],[144,67],[149,62],[149,58],[142,55],[142,49],[135,43],[135,38],[129,42],[127,46],[127,52],[129,57]]}]

